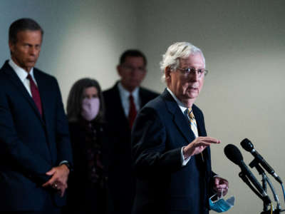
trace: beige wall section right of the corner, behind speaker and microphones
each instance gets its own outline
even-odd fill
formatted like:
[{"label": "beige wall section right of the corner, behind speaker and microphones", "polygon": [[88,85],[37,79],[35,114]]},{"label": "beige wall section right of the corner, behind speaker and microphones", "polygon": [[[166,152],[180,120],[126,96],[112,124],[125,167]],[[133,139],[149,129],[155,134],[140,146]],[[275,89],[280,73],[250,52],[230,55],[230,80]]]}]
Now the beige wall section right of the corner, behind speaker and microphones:
[{"label": "beige wall section right of the corner, behind speaker and microphones", "polygon": [[[285,1],[156,0],[140,1],[139,8],[138,43],[152,59],[144,85],[163,90],[159,61],[173,42],[190,41],[203,50],[209,75],[197,105],[208,135],[222,141],[212,146],[212,166],[236,197],[227,213],[261,213],[261,200],[239,178],[224,146],[236,145],[249,163],[253,156],[239,144],[249,138],[285,180]],[[281,186],[270,179],[284,208]]]}]

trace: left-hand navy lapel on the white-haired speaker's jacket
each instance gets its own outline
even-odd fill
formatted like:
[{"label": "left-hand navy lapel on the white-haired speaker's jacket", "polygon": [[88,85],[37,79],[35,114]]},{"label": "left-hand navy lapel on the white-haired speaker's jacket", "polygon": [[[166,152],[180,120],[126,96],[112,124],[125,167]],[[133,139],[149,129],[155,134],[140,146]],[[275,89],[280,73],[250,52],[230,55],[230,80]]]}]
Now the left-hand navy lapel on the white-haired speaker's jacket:
[{"label": "left-hand navy lapel on the white-haired speaker's jacket", "polygon": [[162,97],[165,100],[168,111],[173,115],[173,122],[176,124],[177,129],[182,133],[182,136],[185,137],[187,143],[190,143],[192,139],[195,139],[194,133],[191,131],[190,126],[187,122],[187,118],[183,115],[179,106],[170,93],[165,89],[162,93]]}]

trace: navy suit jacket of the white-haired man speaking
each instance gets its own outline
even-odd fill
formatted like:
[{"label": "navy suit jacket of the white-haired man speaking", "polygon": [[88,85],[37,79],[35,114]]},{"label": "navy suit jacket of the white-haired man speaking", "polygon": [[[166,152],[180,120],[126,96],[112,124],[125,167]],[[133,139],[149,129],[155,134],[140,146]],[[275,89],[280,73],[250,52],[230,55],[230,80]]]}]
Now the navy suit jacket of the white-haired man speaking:
[{"label": "navy suit jacket of the white-haired man speaking", "polygon": [[[193,105],[199,136],[206,136],[202,111]],[[181,148],[195,139],[189,121],[165,90],[147,103],[132,132],[137,176],[133,213],[208,213],[212,178],[209,148],[182,166]]]}]

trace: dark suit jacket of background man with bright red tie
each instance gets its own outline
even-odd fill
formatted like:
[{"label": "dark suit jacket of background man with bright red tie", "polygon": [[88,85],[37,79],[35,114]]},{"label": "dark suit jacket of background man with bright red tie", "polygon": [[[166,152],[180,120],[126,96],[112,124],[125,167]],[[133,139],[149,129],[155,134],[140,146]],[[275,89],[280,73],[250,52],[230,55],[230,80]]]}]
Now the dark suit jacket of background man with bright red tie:
[{"label": "dark suit jacket of background man with bright red tie", "polygon": [[[135,195],[135,178],[131,173],[130,125],[120,100],[118,83],[103,92],[105,118],[108,132],[115,138],[110,148],[109,185],[115,213],[130,213]],[[140,106],[157,97],[158,94],[140,87]]]}]

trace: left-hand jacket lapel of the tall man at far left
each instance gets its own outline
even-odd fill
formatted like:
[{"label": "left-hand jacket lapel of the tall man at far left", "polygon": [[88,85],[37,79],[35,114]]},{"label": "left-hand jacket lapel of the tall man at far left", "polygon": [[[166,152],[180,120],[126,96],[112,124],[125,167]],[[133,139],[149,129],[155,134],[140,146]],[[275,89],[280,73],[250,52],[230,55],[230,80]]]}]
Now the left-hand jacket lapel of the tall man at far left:
[{"label": "left-hand jacket lapel of the tall man at far left", "polygon": [[11,66],[9,66],[7,61],[6,61],[5,65],[4,65],[4,69],[3,70],[6,73],[6,75],[9,76],[10,81],[14,84],[14,86],[16,86],[18,91],[24,96],[24,98],[26,98],[26,100],[31,105],[31,108],[33,108],[33,111],[36,113],[38,118],[43,122],[43,120],[41,118],[41,115],[40,115],[40,113],[38,111],[38,108],[36,107],[36,104],[33,101],[33,98],[31,98],[30,94],[26,90],[26,87],[21,82],[20,78],[17,76],[17,74],[14,71],[14,69],[11,68]]}]

